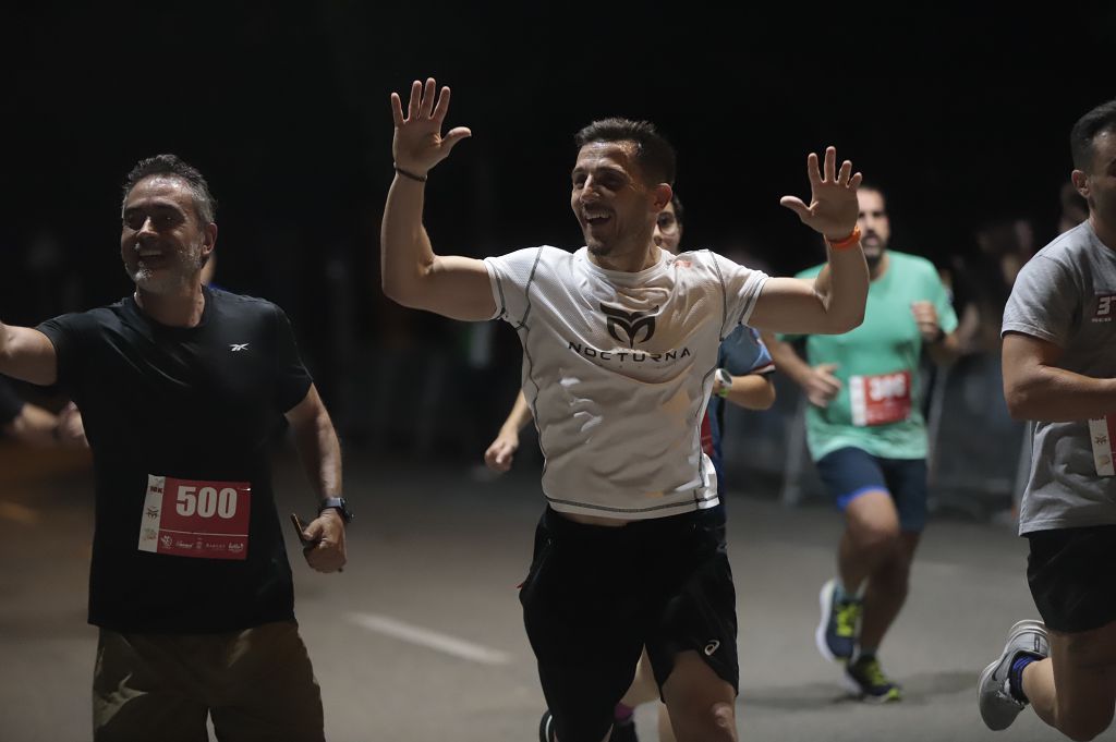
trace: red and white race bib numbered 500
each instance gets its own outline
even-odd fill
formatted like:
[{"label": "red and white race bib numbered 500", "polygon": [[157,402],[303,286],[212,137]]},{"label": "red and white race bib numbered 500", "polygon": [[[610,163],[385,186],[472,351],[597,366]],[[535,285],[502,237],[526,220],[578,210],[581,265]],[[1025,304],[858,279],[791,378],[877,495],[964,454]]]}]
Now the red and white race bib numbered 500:
[{"label": "red and white race bib numbered 500", "polygon": [[247,559],[249,482],[147,476],[140,550],[195,559]]}]

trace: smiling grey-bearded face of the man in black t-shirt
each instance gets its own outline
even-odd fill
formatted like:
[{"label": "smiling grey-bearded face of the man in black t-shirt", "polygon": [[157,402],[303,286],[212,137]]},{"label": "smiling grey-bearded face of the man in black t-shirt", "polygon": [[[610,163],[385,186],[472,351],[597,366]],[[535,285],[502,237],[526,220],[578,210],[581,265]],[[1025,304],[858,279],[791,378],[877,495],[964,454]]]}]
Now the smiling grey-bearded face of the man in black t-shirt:
[{"label": "smiling grey-bearded face of the man in black t-shirt", "polygon": [[136,287],[173,293],[200,285],[217,224],[202,224],[190,186],[174,175],[135,184],[124,202],[121,259]]}]

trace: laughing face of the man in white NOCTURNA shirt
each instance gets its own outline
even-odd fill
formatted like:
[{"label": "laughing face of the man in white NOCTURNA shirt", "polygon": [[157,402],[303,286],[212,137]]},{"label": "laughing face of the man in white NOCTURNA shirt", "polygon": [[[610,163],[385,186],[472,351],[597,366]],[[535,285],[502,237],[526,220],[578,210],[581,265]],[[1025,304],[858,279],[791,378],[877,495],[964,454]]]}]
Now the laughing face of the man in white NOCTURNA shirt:
[{"label": "laughing face of the man in white NOCTURNA shirt", "polygon": [[[570,206],[585,244],[604,258],[646,250],[661,205],[643,182],[632,142],[590,142],[577,154]],[[670,195],[667,194],[667,199]]]}]

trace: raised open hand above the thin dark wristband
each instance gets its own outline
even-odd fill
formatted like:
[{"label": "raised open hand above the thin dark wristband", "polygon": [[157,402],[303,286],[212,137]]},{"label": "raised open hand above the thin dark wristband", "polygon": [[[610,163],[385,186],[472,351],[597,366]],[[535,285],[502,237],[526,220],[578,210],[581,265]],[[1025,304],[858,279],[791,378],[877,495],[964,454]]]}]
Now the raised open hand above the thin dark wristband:
[{"label": "raised open hand above the thin dark wristband", "polygon": [[458,142],[472,136],[472,132],[464,126],[442,135],[445,113],[450,109],[450,88],[442,88],[436,103],[435,91],[433,77],[426,79],[425,87],[419,80],[412,83],[406,117],[403,116],[400,94],[392,94],[392,117],[395,119],[392,155],[395,166],[420,177],[425,177],[431,167],[445,160]]}]

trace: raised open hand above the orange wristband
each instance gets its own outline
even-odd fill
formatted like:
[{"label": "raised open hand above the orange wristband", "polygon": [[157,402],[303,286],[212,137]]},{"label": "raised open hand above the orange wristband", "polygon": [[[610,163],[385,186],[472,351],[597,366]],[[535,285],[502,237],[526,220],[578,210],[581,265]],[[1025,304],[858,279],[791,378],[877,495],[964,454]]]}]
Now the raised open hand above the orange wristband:
[{"label": "raised open hand above the orange wristband", "polygon": [[856,201],[856,189],[864,176],[853,174],[853,163],[848,160],[837,170],[837,150],[827,147],[825,172],[818,171],[818,155],[810,153],[806,158],[806,173],[810,179],[810,204],[798,196],[785,195],[779,203],[787,206],[802,220],[802,223],[827,240],[847,238],[856,228],[860,209]]}]

